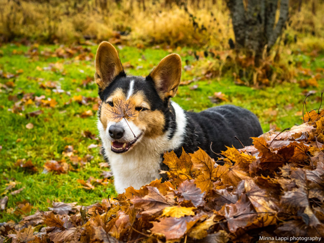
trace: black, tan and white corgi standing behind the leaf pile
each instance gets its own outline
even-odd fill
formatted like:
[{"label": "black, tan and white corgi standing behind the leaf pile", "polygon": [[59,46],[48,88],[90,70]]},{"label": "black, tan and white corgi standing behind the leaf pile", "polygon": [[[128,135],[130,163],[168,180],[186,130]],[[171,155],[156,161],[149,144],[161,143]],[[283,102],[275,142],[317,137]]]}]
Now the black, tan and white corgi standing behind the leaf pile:
[{"label": "black, tan and white corgi standing behind the leaf pile", "polygon": [[[163,58],[145,78],[128,76],[116,49],[102,42],[95,69],[102,101],[98,130],[118,193],[161,178],[160,170],[168,169],[162,163],[167,151],[174,150],[180,156],[182,148],[193,153],[200,147],[215,158],[215,152],[225,150],[225,146],[239,148],[240,142],[248,146],[252,144],[250,137],[262,134],[257,116],[247,109],[223,105],[194,113],[171,101],[182,72],[177,54]],[[137,116],[121,118],[121,114],[121,119],[111,118],[116,105],[127,102],[135,106]]]}]

